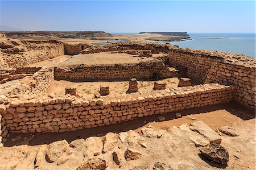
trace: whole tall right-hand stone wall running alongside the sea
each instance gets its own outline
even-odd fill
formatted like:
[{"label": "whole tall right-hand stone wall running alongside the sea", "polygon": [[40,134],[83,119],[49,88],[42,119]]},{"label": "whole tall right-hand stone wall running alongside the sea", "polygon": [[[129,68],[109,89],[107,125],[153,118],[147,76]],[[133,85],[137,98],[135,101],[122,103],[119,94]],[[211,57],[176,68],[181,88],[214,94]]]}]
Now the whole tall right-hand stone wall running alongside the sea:
[{"label": "whole tall right-hand stone wall running alongside the sea", "polygon": [[203,83],[237,86],[236,101],[255,109],[256,61],[247,56],[196,49],[170,49],[169,62]]}]

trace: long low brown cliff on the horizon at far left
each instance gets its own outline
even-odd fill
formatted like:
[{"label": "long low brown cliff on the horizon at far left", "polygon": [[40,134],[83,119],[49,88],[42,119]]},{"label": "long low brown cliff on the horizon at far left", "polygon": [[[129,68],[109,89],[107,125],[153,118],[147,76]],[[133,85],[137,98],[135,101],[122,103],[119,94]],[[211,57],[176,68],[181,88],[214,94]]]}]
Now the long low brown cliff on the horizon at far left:
[{"label": "long low brown cliff on the horizon at far left", "polygon": [[110,36],[104,31],[0,31],[8,38],[96,38]]}]

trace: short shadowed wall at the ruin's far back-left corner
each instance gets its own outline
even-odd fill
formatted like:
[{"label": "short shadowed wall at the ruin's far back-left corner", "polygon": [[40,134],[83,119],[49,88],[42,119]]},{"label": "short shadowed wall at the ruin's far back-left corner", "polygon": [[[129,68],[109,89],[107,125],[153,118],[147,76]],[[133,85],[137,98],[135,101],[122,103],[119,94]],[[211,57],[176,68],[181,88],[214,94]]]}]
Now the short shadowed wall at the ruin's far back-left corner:
[{"label": "short shadowed wall at the ruin's far back-left corner", "polygon": [[79,44],[64,44],[65,55],[78,55],[85,48],[90,47],[89,44],[79,43]]}]

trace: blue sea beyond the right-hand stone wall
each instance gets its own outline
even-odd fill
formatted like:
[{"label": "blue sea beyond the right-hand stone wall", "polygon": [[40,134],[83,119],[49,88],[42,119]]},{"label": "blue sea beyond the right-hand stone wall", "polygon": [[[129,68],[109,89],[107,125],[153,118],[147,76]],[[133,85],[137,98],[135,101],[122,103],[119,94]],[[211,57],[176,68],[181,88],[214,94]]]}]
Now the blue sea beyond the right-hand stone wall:
[{"label": "blue sea beyond the right-hand stone wall", "polygon": [[188,33],[192,40],[170,42],[180,48],[208,49],[256,58],[254,33]]}]

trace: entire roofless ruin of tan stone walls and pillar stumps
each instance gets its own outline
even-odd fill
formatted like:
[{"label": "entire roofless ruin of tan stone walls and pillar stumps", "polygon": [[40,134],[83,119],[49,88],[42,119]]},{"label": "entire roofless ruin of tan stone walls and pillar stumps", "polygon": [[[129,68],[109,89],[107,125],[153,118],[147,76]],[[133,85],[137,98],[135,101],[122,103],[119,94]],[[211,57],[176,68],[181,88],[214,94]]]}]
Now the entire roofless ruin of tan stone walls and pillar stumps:
[{"label": "entire roofless ruin of tan stone walls and pillar stumps", "polygon": [[[5,38],[2,38],[5,39]],[[64,132],[105,126],[154,114],[227,103],[232,100],[255,109],[255,60],[233,53],[181,49],[170,44],[118,42],[103,46],[68,45],[63,42],[19,41],[24,50],[14,53],[14,43],[0,45],[1,142],[10,132]],[[37,45],[35,45],[37,43]],[[9,51],[7,50],[9,49]],[[74,52],[75,51],[75,52]],[[68,65],[26,67],[68,53],[147,51],[162,53],[161,59],[133,64]],[[11,53],[13,52],[13,53]],[[31,55],[34,53],[34,55]],[[11,56],[11,57],[10,57]],[[137,79],[180,77],[180,87],[166,88],[155,82],[151,92],[139,92]],[[185,71],[185,72],[184,72]],[[22,76],[16,76],[22,74]],[[200,82],[191,85],[191,81]],[[10,77],[16,77],[11,80]],[[23,77],[24,76],[24,77]],[[8,80],[4,80],[8,77]],[[130,79],[131,78],[131,79]],[[15,79],[15,78],[13,78]],[[109,86],[101,86],[97,98],[86,98],[74,87],[63,96],[45,94],[53,80],[130,80],[125,95],[108,97]]]}]

